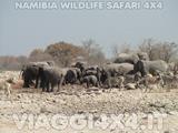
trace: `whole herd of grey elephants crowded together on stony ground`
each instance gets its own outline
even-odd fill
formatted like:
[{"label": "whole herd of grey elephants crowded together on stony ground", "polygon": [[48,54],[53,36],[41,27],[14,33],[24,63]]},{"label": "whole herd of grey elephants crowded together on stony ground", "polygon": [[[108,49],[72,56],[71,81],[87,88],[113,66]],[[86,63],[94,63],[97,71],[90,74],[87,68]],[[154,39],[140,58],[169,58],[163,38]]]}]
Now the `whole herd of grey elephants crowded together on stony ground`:
[{"label": "whole herd of grey elephants crowded together on stony ground", "polygon": [[91,85],[122,88],[129,82],[137,82],[138,85],[145,81],[142,79],[148,78],[148,74],[156,76],[155,81],[171,80],[175,75],[164,74],[172,70],[168,63],[162,60],[149,61],[146,53],[120,53],[112,63],[101,66],[87,66],[83,62],[76,62],[70,68],[59,68],[53,62],[30,62],[23,65],[21,74],[23,88],[34,85],[42,88],[43,92],[58,92],[66,84],[87,84],[87,88]]}]

